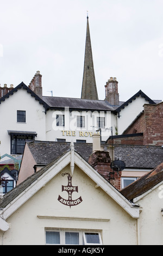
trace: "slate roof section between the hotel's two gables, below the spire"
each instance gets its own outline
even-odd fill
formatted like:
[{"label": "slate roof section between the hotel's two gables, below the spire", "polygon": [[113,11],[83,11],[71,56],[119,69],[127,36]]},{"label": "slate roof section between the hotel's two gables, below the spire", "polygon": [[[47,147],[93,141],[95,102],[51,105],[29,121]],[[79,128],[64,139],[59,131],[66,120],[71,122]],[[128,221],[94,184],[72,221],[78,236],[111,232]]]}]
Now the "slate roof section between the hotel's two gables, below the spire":
[{"label": "slate roof section between the hotel's two gables, below the spire", "polygon": [[68,97],[51,97],[42,96],[43,101],[47,103],[51,108],[64,109],[65,107],[70,110],[83,110],[86,111],[114,111],[115,107],[111,106],[106,100],[85,100]]}]

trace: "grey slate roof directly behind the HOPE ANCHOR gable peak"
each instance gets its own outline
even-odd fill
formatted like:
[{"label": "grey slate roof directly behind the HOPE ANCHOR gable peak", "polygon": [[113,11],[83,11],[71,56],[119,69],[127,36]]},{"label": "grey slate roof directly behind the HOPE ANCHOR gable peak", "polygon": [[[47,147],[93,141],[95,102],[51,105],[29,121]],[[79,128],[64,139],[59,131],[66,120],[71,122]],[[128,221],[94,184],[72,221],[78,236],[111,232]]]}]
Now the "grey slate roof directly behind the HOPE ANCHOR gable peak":
[{"label": "grey slate roof directly behind the HOPE ANCHOR gable peak", "polygon": [[[27,141],[29,150],[37,164],[48,164],[63,154],[68,148],[68,142]],[[108,144],[102,144],[108,150]],[[159,146],[144,145],[114,145],[115,159],[126,163],[126,168],[153,169],[163,161],[163,149]],[[74,149],[86,161],[92,154],[91,143],[74,143]]]}]

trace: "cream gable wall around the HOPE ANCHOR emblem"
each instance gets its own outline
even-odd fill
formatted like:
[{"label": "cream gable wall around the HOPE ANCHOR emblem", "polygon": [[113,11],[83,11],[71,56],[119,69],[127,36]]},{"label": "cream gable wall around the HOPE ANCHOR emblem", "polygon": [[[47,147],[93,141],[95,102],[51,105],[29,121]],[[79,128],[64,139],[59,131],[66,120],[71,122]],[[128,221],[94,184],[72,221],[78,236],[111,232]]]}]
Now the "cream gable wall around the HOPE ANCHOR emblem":
[{"label": "cream gable wall around the HOPE ANCHOR emblem", "polygon": [[136,220],[101,188],[96,188],[96,183],[77,166],[72,185],[78,186],[78,193],[73,192],[72,197],[81,196],[83,202],[70,208],[58,201],[59,195],[68,198],[67,192],[61,191],[61,186],[68,184],[67,175],[61,174],[67,172],[71,173],[70,166],[7,219],[10,229],[3,234],[3,239],[0,237],[1,244],[45,245],[45,229],[51,228],[100,231],[104,245],[136,245]]}]

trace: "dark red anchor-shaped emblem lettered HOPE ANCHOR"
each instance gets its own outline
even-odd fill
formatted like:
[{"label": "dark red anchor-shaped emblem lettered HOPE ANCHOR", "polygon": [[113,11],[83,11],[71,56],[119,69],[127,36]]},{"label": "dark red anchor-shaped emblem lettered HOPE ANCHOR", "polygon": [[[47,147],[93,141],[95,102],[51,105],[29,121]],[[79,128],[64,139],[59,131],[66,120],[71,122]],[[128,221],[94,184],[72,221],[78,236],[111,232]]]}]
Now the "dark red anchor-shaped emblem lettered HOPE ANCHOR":
[{"label": "dark red anchor-shaped emblem lettered HOPE ANCHOR", "polygon": [[68,175],[68,185],[64,186],[62,185],[62,192],[63,191],[67,191],[68,193],[68,199],[64,199],[62,198],[60,195],[58,196],[58,200],[61,204],[67,205],[67,206],[75,206],[78,205],[80,203],[82,203],[82,197],[79,197],[76,200],[72,200],[72,193],[73,192],[78,192],[78,186],[72,186],[72,176],[70,175],[70,173],[63,173],[62,176]]}]

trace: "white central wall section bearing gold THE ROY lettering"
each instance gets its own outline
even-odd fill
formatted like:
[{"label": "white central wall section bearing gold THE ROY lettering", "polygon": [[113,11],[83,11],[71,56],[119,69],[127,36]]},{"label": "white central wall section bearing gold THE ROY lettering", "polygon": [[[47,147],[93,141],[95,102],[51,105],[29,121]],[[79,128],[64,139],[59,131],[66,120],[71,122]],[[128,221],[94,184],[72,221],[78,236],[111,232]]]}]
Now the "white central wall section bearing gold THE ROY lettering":
[{"label": "white central wall section bearing gold THE ROY lettering", "polygon": [[[65,115],[65,127],[56,125],[56,115]],[[77,115],[85,117],[85,127],[77,127]],[[92,134],[97,130],[97,117],[105,117],[105,129],[102,129],[102,141],[111,135],[111,121],[116,120],[116,117],[111,117],[110,111],[72,111],[68,108],[64,111],[49,110],[46,114],[46,140],[57,141],[57,138],[66,139],[67,142],[76,142],[77,139],[86,140],[87,143],[92,143]]]}]

